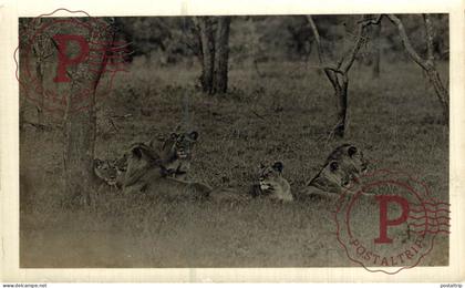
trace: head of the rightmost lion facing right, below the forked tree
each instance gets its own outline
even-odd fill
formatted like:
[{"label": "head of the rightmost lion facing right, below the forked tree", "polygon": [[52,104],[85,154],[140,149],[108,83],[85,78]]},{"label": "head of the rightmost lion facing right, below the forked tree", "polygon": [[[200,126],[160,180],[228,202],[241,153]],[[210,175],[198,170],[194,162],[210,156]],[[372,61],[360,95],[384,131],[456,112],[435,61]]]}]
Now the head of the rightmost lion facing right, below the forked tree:
[{"label": "head of the rightmost lion facing right, below the forked tree", "polygon": [[343,144],[337,147],[328,157],[328,162],[337,161],[339,166],[354,179],[368,171],[368,161],[363,152],[352,144]]}]

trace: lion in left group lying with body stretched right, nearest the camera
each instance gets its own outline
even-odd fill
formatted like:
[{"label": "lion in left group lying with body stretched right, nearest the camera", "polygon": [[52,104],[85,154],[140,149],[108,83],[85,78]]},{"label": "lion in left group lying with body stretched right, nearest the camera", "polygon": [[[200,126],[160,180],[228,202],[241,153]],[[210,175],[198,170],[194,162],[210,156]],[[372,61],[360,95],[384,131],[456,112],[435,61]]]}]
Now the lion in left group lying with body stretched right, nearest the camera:
[{"label": "lion in left group lying with body stretched right, nearest the camera", "polygon": [[151,146],[144,143],[133,145],[127,156],[123,191],[156,193],[173,198],[202,198],[211,192],[208,185],[168,177],[170,172],[162,163]]}]

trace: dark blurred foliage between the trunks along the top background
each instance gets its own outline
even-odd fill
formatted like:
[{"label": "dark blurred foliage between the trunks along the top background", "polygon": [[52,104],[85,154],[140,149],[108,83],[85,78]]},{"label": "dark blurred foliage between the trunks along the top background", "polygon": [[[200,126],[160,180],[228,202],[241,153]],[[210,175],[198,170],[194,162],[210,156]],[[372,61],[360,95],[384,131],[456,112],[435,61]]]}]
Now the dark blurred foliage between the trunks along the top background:
[{"label": "dark blurred foliage between the trunks along the top background", "polygon": [[[323,45],[345,48],[353,35],[353,24],[358,16],[313,16],[319,25]],[[405,25],[413,47],[426,54],[425,31],[421,14],[399,16]],[[447,14],[432,14],[434,53],[438,60],[448,59],[448,18]],[[118,18],[121,31],[133,43],[134,56],[145,56],[153,64],[174,65],[182,61],[193,61],[199,50],[198,28],[193,18]],[[217,21],[214,19],[214,22]],[[376,39],[375,31],[361,51],[360,59],[370,63],[375,48],[380,49],[383,61],[407,61],[399,33],[388,20],[383,20]],[[216,23],[214,24],[214,29]],[[373,28],[374,30],[374,28]],[[313,58],[314,39],[304,16],[254,16],[232,17],[229,39],[230,62],[244,64],[257,59],[266,61],[302,61]]]}]

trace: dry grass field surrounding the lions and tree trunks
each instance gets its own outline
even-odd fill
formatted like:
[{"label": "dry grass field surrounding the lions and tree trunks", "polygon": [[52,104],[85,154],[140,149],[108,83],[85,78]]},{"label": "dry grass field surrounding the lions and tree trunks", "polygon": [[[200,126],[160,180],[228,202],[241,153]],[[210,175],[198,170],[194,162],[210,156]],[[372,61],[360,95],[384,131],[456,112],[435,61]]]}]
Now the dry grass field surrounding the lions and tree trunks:
[{"label": "dry grass field surrounding the lions and tree trunks", "polygon": [[[327,141],[335,100],[323,74],[302,63],[260,69],[262,78],[232,63],[229,93],[208,96],[195,89],[197,66],[159,68],[136,59],[99,102],[96,156],[115,158],[132,142],[168,135],[183,124],[199,132],[193,179],[240,192],[256,179],[260,162],[279,160],[297,192],[333,147],[351,142],[363,148],[372,169],[409,171],[433,196],[448,200],[448,128],[437,124],[438,101],[414,64],[383,63],[378,80],[370,68],[354,66],[342,142]],[[445,78],[447,64],[441,69]],[[33,121],[34,111],[22,109]],[[355,265],[337,241],[327,203],[169,203],[102,188],[92,207],[64,208],[64,138],[59,120],[49,124],[44,132],[25,126],[20,136],[21,267]],[[447,261],[448,238],[441,236],[422,265]]]}]

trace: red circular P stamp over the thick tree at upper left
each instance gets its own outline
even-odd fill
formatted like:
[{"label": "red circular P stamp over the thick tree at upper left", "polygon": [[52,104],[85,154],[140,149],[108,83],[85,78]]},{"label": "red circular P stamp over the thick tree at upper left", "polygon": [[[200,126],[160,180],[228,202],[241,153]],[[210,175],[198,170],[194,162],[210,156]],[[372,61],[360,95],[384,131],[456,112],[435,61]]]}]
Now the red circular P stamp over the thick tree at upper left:
[{"label": "red circular P stamp over the thick tree at upper left", "polygon": [[114,34],[111,21],[84,11],[58,9],[21,19],[14,60],[22,94],[38,109],[59,114],[92,107],[108,94],[115,74],[127,72],[127,44],[115,42]]}]

